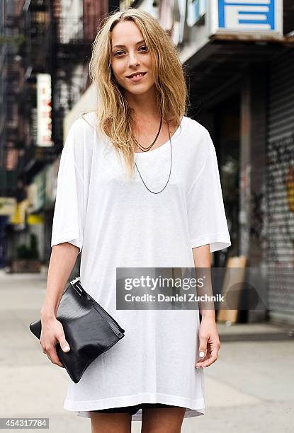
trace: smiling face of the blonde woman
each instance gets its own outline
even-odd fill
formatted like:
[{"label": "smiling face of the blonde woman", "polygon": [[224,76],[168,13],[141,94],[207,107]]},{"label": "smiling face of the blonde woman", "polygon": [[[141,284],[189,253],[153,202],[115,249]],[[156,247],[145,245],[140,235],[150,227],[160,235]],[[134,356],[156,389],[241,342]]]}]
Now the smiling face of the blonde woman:
[{"label": "smiling face of the blonde woman", "polygon": [[[152,58],[142,33],[133,21],[122,21],[112,30],[111,67],[115,81],[127,93],[141,95],[154,86]],[[144,75],[128,78],[139,72]]]}]

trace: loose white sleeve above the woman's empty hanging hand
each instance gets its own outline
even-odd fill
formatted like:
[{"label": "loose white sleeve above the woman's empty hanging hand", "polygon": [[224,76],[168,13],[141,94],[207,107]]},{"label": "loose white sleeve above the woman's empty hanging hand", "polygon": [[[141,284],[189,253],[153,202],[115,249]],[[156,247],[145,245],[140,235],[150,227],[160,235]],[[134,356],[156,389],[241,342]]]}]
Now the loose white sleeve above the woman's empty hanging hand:
[{"label": "loose white sleeve above the woman's empty hanging hand", "polygon": [[187,213],[191,248],[209,244],[210,253],[231,245],[215,147],[208,133],[209,150],[188,190]]}]

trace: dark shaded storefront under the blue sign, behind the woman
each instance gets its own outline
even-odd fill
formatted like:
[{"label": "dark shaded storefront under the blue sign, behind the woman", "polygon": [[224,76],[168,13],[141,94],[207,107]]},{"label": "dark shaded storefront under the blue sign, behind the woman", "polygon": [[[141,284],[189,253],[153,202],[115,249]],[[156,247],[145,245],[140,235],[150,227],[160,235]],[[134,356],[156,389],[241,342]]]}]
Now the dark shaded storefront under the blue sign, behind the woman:
[{"label": "dark shaded storefront under the blue sign, behind the woman", "polygon": [[194,20],[186,16],[188,37],[179,45],[188,115],[208,129],[215,144],[232,238],[230,248],[214,254],[213,265],[245,255],[247,267],[257,273],[262,267],[268,279],[263,308],[248,311],[246,320],[286,318],[285,299],[294,303],[293,280],[292,287],[281,275],[269,282],[268,270],[281,263],[293,267],[293,159],[285,165],[285,155],[291,149],[293,154],[293,37],[283,36],[281,1],[264,2],[264,24],[260,16],[254,23],[244,15],[246,9],[253,18],[257,2],[234,8],[231,3],[209,1],[205,11],[194,11]]}]

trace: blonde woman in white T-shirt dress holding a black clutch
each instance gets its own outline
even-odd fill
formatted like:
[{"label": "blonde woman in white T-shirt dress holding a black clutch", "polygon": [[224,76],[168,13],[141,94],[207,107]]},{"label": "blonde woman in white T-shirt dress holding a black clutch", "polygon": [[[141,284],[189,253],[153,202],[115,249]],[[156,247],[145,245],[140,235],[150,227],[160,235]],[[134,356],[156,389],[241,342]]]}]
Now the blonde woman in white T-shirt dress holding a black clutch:
[{"label": "blonde woman in white T-shirt dress holding a black clutch", "polygon": [[[186,84],[169,36],[152,16],[128,9],[107,17],[94,41],[97,110],[77,119],[60,160],[52,255],[41,317],[43,352],[67,345],[56,319],[77,255],[81,284],[125,329],[79,383],[64,408],[90,417],[92,433],[181,431],[203,415],[203,367],[217,359],[213,309],[116,309],[121,267],[210,267],[230,246],[215,148],[185,116]],[[69,348],[70,350],[70,348]]]}]

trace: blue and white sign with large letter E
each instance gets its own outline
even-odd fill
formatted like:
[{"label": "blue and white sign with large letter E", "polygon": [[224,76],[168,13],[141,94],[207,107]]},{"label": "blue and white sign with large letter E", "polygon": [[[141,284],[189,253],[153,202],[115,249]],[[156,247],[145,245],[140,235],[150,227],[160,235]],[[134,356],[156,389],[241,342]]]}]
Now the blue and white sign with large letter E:
[{"label": "blue and white sign with large letter E", "polygon": [[227,30],[276,30],[276,0],[218,0],[218,27]]}]

